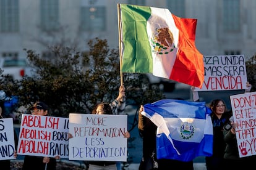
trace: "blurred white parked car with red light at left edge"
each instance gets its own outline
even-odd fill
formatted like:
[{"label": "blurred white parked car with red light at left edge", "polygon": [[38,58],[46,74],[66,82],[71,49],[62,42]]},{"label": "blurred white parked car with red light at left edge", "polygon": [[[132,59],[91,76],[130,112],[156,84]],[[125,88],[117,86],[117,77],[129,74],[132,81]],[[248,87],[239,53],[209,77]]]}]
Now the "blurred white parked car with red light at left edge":
[{"label": "blurred white parked car with red light at left edge", "polygon": [[9,59],[4,58],[0,59],[0,68],[3,70],[3,75],[9,75],[13,79],[20,80],[23,76],[31,76],[32,75],[32,67],[29,67],[27,59]]}]

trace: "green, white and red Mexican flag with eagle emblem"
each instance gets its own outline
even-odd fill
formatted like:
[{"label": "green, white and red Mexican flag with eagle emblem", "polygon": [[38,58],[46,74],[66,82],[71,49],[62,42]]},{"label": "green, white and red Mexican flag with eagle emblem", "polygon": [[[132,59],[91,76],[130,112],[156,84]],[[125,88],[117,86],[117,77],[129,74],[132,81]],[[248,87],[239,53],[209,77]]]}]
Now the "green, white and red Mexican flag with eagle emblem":
[{"label": "green, white and red Mexican flag with eagle emblem", "polygon": [[202,87],[203,55],[195,47],[197,20],[168,9],[120,4],[122,72],[152,73]]}]

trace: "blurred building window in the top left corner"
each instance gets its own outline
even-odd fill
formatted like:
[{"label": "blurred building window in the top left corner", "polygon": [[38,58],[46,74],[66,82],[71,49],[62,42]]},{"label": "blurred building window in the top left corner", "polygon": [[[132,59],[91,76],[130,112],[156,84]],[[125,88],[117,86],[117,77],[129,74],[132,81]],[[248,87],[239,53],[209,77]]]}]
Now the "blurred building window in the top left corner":
[{"label": "blurred building window in the top left corner", "polygon": [[0,0],[1,32],[19,31],[19,0]]}]

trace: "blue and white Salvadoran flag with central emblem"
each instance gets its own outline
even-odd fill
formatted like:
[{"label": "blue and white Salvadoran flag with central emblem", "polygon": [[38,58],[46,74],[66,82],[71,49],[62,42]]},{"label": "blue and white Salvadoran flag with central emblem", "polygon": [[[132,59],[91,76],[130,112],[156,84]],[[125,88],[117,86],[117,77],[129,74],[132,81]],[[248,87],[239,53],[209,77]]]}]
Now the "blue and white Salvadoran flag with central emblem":
[{"label": "blue and white Salvadoran flag with central emblem", "polygon": [[142,115],[156,124],[156,156],[191,161],[213,153],[211,110],[205,102],[164,99],[144,105]]}]

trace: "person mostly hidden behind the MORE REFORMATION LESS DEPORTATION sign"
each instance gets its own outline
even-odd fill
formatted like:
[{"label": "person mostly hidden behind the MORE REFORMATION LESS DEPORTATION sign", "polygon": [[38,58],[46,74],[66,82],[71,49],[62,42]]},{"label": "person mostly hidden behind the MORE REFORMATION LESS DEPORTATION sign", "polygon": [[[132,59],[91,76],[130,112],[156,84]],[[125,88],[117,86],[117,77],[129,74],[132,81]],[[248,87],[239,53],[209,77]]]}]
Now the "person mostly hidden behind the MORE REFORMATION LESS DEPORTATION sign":
[{"label": "person mostly hidden behind the MORE REFORMATION LESS DEPORTATION sign", "polygon": [[[113,115],[113,109],[111,108],[109,103],[98,103],[98,105],[96,105],[96,107],[93,109],[92,114]],[[129,138],[130,133],[128,131],[125,132],[124,137]],[[100,169],[116,170],[116,161],[90,161],[89,170]]]}]

